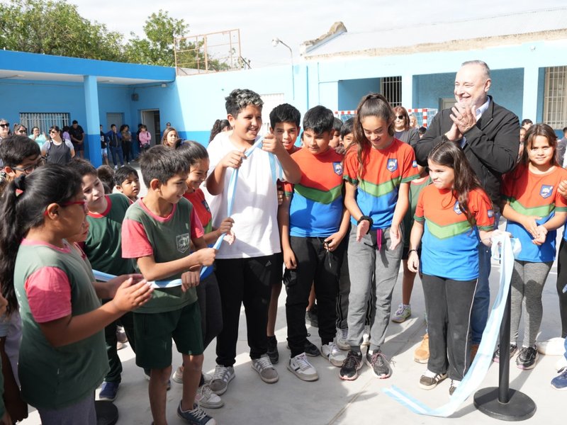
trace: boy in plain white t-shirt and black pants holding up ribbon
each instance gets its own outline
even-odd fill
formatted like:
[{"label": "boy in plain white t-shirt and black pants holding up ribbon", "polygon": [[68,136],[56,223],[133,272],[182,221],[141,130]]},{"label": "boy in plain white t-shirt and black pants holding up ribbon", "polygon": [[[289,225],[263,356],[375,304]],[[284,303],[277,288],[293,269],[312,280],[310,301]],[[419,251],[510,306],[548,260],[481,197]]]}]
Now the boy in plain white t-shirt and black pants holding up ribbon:
[{"label": "boy in plain white t-shirt and black pants holding up ribbon", "polygon": [[[275,254],[281,251],[274,177],[298,183],[301,171],[281,142],[265,138],[262,148],[245,156],[262,127],[264,102],[257,93],[236,89],[226,99],[232,131],[220,132],[208,146],[210,159],[207,201],[213,227],[226,216],[230,176],[238,170],[231,217],[235,243],[223,244],[216,256],[215,273],[223,305],[223,331],[217,336],[217,365],[210,389],[218,395],[235,377],[238,319],[244,304],[252,368],[264,382],[278,380],[267,355],[266,324]],[[270,158],[273,155],[274,157]],[[283,176],[281,176],[283,171]]]}]

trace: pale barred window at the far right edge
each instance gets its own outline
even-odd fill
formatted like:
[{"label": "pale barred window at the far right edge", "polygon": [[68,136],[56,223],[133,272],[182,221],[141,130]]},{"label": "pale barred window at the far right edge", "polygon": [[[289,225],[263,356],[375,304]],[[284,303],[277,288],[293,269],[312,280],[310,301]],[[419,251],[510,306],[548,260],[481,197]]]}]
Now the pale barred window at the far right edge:
[{"label": "pale barred window at the far right edge", "polygon": [[545,69],[544,123],[551,128],[567,124],[567,67]]}]

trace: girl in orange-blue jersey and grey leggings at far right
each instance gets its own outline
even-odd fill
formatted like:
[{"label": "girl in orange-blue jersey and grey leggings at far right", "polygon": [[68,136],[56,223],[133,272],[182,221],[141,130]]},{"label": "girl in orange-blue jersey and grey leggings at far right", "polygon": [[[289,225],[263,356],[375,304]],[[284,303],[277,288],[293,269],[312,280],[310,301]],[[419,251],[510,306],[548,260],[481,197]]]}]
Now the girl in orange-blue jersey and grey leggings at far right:
[{"label": "girl in orange-blue jersey and grey leggings at far right", "polygon": [[[510,356],[517,351],[518,327],[524,310],[524,340],[516,359],[520,369],[531,369],[537,361],[536,336],[541,325],[541,293],[556,254],[556,229],[565,224],[567,201],[558,186],[567,171],[556,159],[557,137],[549,125],[536,124],[527,130],[522,159],[504,176],[502,215],[506,230],[520,239],[512,272]],[[498,360],[500,350],[495,353]]]}]

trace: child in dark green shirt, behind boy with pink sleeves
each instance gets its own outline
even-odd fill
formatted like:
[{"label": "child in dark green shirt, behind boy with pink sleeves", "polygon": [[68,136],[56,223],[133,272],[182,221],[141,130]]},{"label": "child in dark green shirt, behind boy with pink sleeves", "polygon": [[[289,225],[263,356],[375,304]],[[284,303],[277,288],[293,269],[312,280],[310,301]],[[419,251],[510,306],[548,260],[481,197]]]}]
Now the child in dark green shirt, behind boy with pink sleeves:
[{"label": "child in dark green shirt, behind boy with pink sleeves", "polygon": [[[134,272],[131,261],[122,258],[121,232],[126,210],[130,206],[128,198],[120,193],[106,195],[103,183],[94,166],[86,159],[73,159],[68,164],[82,177],[82,186],[86,198],[86,208],[89,210],[86,221],[89,222],[89,234],[84,242],[84,253],[91,262],[93,270],[120,276]],[[108,300],[103,300],[108,302]],[[120,317],[130,346],[135,352],[133,315],[128,312]],[[122,380],[122,363],[116,352],[118,340],[116,328],[118,320],[104,328],[106,353],[110,370],[104,378],[99,393],[99,399],[113,401],[118,395],[118,387]]]}]

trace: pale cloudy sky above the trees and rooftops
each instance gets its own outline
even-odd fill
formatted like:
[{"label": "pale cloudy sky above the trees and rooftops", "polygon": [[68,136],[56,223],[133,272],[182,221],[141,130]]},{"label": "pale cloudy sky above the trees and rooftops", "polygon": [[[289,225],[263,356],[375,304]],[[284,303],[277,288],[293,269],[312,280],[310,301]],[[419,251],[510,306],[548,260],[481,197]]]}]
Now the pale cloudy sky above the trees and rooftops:
[{"label": "pale cloudy sky above the trees and rooftops", "polygon": [[242,57],[252,68],[290,63],[289,50],[274,47],[274,38],[289,45],[297,60],[301,43],[327,33],[336,21],[360,32],[565,6],[565,0],[121,0],[105,2],[103,8],[93,0],[69,2],[81,16],[123,33],[125,40],[130,32],[142,37],[145,20],[160,8],[184,19],[189,35],[238,28]]}]

